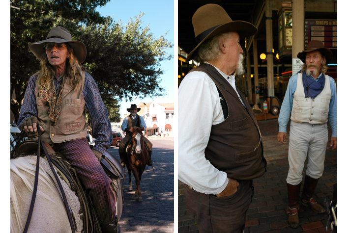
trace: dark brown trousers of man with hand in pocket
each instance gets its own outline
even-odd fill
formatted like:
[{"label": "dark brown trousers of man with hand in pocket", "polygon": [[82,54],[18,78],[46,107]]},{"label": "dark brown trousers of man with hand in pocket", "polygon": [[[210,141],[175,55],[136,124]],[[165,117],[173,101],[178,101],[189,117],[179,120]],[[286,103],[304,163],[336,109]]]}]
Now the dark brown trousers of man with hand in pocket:
[{"label": "dark brown trousers of man with hand in pocket", "polygon": [[243,232],[254,187],[252,180],[239,182],[237,191],[229,197],[200,193],[185,185],[185,202],[197,215],[199,233]]}]

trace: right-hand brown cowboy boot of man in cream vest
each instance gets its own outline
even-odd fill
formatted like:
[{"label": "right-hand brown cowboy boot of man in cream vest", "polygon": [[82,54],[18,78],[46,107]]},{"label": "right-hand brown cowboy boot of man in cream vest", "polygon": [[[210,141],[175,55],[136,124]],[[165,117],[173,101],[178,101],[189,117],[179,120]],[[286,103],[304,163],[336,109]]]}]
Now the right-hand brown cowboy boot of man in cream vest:
[{"label": "right-hand brown cowboy boot of man in cream vest", "polygon": [[316,185],[319,179],[311,178],[310,176],[305,176],[303,193],[302,193],[302,204],[306,207],[311,207],[316,213],[324,213],[325,208],[316,202],[313,198]]}]

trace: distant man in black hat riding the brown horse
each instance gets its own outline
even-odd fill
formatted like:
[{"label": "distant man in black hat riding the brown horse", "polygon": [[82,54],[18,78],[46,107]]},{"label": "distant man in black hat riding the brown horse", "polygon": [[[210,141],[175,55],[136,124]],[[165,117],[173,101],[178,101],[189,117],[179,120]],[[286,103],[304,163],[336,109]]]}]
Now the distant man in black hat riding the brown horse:
[{"label": "distant man in black hat riding the brown horse", "polygon": [[[133,128],[144,127],[144,130],[146,130],[146,125],[145,125],[145,121],[144,121],[143,117],[140,117],[137,114],[137,112],[139,110],[141,110],[141,108],[137,108],[136,104],[131,104],[131,107],[127,108],[126,110],[128,112],[130,112],[131,114],[128,117],[125,117],[125,119],[123,119],[123,122],[121,125],[122,131],[126,132],[125,137],[121,140],[121,142],[119,144],[120,163],[123,167],[125,166],[125,160],[127,158],[126,152],[125,152],[125,149],[126,149],[125,147],[127,146],[128,142],[132,139],[133,130],[131,129],[131,126]],[[143,141],[148,148],[149,160],[148,160],[147,164],[149,166],[152,166],[153,162],[151,161],[151,151],[153,148],[153,144],[151,144],[151,142],[146,137],[143,138]]]}]

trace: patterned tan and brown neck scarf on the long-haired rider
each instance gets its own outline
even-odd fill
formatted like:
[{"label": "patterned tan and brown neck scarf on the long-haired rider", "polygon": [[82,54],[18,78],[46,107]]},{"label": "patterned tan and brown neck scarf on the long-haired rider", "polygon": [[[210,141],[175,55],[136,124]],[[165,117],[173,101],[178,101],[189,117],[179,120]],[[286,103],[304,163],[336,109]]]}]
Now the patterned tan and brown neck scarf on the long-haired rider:
[{"label": "patterned tan and brown neck scarf on the long-haired rider", "polygon": [[50,84],[41,83],[39,90],[39,97],[42,103],[44,103],[47,108],[47,113],[49,113],[50,122],[52,126],[56,126],[58,116],[60,114],[60,109],[62,107],[62,96],[64,83],[67,77],[64,76],[62,83],[59,85],[57,94],[55,92],[55,85],[53,78],[50,80]]}]

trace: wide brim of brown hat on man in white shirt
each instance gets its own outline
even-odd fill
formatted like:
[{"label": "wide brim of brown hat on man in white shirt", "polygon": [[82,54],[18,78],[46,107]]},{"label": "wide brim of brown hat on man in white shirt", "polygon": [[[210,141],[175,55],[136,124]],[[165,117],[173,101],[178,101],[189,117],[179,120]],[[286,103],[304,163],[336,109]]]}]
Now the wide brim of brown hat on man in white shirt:
[{"label": "wide brim of brown hat on man in white shirt", "polygon": [[225,32],[231,32],[231,31],[236,31],[239,36],[240,39],[241,38],[245,38],[248,36],[252,36],[255,35],[257,33],[257,28],[248,22],[245,21],[233,21],[233,22],[229,22],[226,24],[222,24],[221,26],[216,27],[213,31],[211,31],[205,38],[204,40],[202,40],[197,47],[195,47],[195,49],[189,53],[189,55],[187,56],[187,58],[185,58],[185,62],[189,62],[192,59],[192,56],[195,54],[196,50],[208,39],[225,33]]}]

